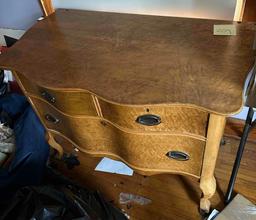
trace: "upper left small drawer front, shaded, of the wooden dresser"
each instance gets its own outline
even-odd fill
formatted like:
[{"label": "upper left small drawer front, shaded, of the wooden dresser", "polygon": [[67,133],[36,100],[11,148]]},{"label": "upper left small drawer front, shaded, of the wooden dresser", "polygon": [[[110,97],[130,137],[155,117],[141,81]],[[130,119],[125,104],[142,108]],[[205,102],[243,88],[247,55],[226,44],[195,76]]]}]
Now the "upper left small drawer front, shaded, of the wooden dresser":
[{"label": "upper left small drawer front, shaded, of the wooden dresser", "polygon": [[30,82],[22,74],[18,75],[18,80],[25,92],[29,95],[40,97],[53,105],[60,111],[70,115],[96,116],[97,111],[92,96],[86,92],[59,91],[43,88]]}]

